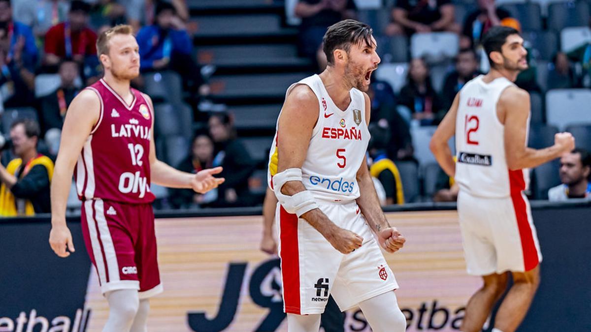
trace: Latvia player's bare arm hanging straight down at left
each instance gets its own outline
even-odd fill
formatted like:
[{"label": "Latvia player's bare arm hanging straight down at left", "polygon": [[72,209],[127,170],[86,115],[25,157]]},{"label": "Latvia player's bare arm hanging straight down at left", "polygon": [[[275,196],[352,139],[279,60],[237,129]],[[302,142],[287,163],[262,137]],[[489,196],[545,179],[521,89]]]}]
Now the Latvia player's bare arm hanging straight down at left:
[{"label": "Latvia player's bare arm hanging straight down at left", "polygon": [[51,232],[49,235],[51,249],[60,257],[70,256],[70,252],[74,252],[72,234],[66,225],[66,203],[74,166],[92,128],[98,123],[99,116],[99,97],[92,90],[82,90],[72,100],[61,128],[63,139],[60,142],[51,180]]}]

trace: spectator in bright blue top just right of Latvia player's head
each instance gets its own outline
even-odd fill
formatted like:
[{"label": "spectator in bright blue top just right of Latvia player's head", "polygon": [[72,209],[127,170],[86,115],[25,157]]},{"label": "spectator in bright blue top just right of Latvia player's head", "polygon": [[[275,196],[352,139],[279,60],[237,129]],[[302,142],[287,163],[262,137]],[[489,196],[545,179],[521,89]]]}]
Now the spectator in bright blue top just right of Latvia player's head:
[{"label": "spectator in bright blue top just right of Latvia player's head", "polygon": [[174,70],[190,91],[201,86],[201,71],[191,54],[193,40],[172,4],[158,2],[156,24],[141,28],[137,41],[142,72]]}]

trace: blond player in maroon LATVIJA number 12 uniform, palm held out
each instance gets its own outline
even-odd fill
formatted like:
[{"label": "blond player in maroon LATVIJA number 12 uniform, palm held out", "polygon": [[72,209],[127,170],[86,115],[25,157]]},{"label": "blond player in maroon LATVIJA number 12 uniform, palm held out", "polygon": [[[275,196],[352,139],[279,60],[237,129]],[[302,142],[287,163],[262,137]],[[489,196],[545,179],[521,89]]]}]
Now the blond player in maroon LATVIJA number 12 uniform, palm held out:
[{"label": "blond player in maroon LATVIJA number 12 uniform, palm held out", "polygon": [[205,193],[223,183],[213,177],[222,168],[189,174],[158,161],[152,101],[129,86],[139,74],[132,28],[111,28],[96,46],[105,76],[82,90],[67,111],[51,183],[49,242],[60,257],[74,252],[65,211],[76,167],[82,233],[109,302],[103,331],[146,331],[148,298],[163,290],[150,183]]}]

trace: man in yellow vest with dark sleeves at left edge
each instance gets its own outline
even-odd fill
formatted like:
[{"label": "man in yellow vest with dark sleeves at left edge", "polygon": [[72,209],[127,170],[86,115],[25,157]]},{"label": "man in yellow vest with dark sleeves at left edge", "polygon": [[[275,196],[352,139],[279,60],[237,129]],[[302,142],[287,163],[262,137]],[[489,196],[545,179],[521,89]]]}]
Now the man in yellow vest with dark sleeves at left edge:
[{"label": "man in yellow vest with dark sleeves at left edge", "polygon": [[49,185],[53,161],[37,152],[40,134],[39,125],[33,120],[12,123],[10,138],[17,158],[6,168],[0,164],[0,216],[51,212]]}]

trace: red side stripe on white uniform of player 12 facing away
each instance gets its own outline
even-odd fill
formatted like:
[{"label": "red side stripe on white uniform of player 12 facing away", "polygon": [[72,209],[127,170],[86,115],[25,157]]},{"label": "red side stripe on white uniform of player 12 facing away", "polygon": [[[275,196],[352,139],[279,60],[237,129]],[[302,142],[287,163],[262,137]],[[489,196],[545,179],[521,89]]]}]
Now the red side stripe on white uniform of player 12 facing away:
[{"label": "red side stripe on white uniform of player 12 facing away", "polygon": [[530,271],[538,265],[540,259],[538,258],[538,250],[535,248],[534,236],[532,235],[530,221],[527,216],[527,205],[521,194],[521,191],[525,189],[523,171],[509,170],[509,183],[511,184],[511,200],[513,201],[513,209],[517,218],[519,237],[521,237],[524,268],[525,271]]}]

